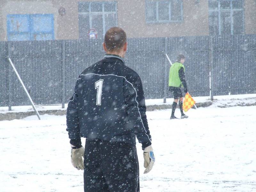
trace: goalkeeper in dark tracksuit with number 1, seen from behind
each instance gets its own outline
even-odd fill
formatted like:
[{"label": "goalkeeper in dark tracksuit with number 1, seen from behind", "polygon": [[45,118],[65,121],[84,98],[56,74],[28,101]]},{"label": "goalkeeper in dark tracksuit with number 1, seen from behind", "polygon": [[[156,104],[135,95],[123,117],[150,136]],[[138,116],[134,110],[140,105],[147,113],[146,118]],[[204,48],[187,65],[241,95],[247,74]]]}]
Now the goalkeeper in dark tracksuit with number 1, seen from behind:
[{"label": "goalkeeper in dark tracksuit with number 1, seen from behind", "polygon": [[[144,152],[144,173],[155,162],[144,92],[139,75],[124,65],[123,29],[110,28],[103,47],[104,59],[82,72],[68,102],[71,162],[84,169],[85,192],[139,192],[135,136]],[[85,151],[80,137],[86,138]]]}]

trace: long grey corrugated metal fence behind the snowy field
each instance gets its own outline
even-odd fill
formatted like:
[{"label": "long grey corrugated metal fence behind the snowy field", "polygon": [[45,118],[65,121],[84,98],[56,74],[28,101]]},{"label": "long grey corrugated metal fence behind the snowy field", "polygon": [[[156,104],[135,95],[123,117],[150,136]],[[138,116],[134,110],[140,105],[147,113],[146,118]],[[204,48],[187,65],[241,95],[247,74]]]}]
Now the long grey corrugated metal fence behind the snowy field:
[{"label": "long grey corrugated metal fence behind the snowy field", "polygon": [[[256,93],[256,35],[128,39],[126,65],[141,77],[147,99],[171,97],[170,64],[186,56],[192,96]],[[36,104],[68,102],[79,74],[104,56],[101,40],[0,42],[0,106],[29,105],[10,57]],[[210,76],[211,72],[211,76]]]}]

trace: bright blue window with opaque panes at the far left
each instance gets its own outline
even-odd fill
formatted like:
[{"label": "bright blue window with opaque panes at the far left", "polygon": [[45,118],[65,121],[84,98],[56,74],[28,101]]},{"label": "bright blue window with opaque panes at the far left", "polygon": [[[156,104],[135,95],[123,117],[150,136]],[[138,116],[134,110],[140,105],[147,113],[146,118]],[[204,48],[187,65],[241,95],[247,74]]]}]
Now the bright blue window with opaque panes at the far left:
[{"label": "bright blue window with opaque panes at the far left", "polygon": [[53,14],[7,15],[8,41],[54,40]]}]

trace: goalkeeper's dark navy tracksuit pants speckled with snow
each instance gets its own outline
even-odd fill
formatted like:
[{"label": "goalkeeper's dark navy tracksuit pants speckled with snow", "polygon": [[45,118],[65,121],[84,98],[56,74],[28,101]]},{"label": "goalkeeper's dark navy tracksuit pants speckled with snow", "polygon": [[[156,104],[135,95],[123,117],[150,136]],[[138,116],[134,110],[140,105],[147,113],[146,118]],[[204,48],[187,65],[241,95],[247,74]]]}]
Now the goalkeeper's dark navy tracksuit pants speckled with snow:
[{"label": "goalkeeper's dark navy tracksuit pants speckled with snow", "polygon": [[84,192],[139,192],[136,146],[89,140],[84,152]]}]

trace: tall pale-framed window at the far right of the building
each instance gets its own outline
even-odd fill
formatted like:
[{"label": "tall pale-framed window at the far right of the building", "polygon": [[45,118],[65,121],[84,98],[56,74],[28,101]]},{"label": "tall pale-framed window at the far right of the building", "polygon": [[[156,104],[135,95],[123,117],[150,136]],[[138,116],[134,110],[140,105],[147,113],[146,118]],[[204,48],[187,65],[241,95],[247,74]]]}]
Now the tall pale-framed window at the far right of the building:
[{"label": "tall pale-framed window at the far right of the building", "polygon": [[210,35],[233,35],[244,32],[243,0],[208,0]]}]

